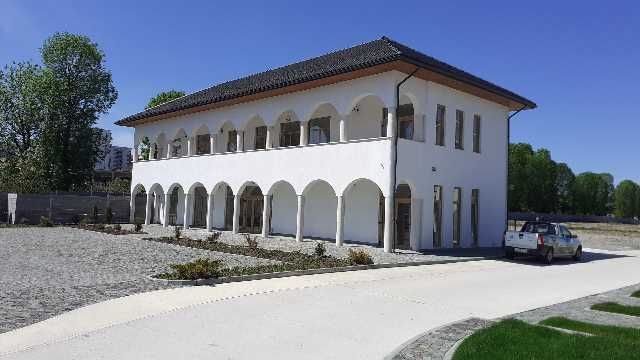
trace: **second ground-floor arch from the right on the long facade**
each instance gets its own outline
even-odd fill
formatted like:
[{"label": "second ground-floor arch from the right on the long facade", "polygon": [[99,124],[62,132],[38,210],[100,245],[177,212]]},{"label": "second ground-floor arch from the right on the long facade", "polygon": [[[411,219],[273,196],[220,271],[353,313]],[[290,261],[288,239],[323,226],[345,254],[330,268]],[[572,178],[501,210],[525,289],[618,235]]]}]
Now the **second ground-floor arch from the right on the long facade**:
[{"label": "second ground-floor arch from the right on the long facade", "polygon": [[338,198],[334,188],[325,180],[310,182],[304,196],[304,236],[334,239]]}]

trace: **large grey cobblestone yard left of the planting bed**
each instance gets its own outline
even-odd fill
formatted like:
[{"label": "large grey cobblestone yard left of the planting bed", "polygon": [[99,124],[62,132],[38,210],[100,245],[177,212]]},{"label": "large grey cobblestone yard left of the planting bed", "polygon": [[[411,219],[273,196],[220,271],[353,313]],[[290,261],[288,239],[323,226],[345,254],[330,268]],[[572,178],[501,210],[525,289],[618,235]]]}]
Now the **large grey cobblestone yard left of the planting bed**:
[{"label": "large grey cobblestone yard left of the planting bed", "polygon": [[0,333],[84,305],[171,288],[148,279],[200,257],[226,265],[269,260],[65,227],[0,229]]}]

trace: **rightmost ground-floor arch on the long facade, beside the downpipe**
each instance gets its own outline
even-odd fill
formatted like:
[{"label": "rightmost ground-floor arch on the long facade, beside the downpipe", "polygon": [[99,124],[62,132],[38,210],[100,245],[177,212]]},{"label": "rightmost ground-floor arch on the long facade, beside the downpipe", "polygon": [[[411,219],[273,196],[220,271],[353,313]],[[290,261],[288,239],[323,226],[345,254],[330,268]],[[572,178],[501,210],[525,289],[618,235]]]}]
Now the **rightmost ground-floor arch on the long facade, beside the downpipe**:
[{"label": "rightmost ground-floor arch on the long facade, beside the downpipe", "polygon": [[375,181],[353,180],[343,192],[344,239],[382,245],[384,234],[384,197]]}]

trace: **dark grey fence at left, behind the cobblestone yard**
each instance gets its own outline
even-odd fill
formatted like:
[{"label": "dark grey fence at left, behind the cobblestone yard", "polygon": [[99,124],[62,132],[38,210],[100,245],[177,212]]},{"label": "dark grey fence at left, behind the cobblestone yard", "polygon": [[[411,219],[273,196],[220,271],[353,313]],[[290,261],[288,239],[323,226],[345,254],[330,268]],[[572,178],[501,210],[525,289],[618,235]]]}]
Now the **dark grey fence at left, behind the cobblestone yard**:
[{"label": "dark grey fence at left, behind the cobblestone yard", "polygon": [[[3,200],[4,199],[4,200]],[[75,224],[82,218],[93,214],[97,208],[99,222],[106,222],[106,210],[111,208],[113,223],[129,222],[129,195],[108,193],[55,193],[55,194],[18,194],[15,215],[8,213],[7,194],[0,193],[0,219],[15,223],[37,224],[44,216],[56,224]],[[136,197],[136,208],[145,208],[146,199]],[[4,213],[2,212],[4,210]],[[144,217],[136,212],[136,221],[144,221]]]}]

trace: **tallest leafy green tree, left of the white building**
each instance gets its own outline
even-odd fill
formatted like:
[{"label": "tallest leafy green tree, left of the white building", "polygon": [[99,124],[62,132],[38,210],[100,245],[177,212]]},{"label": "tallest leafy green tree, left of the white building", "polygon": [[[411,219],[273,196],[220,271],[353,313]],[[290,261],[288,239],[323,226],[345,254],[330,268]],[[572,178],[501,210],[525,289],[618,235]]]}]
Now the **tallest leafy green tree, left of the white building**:
[{"label": "tallest leafy green tree, left of the white building", "polygon": [[42,143],[55,189],[90,182],[110,135],[93,126],[118,92],[104,67],[104,53],[86,36],[56,33],[41,48],[47,90]]}]

